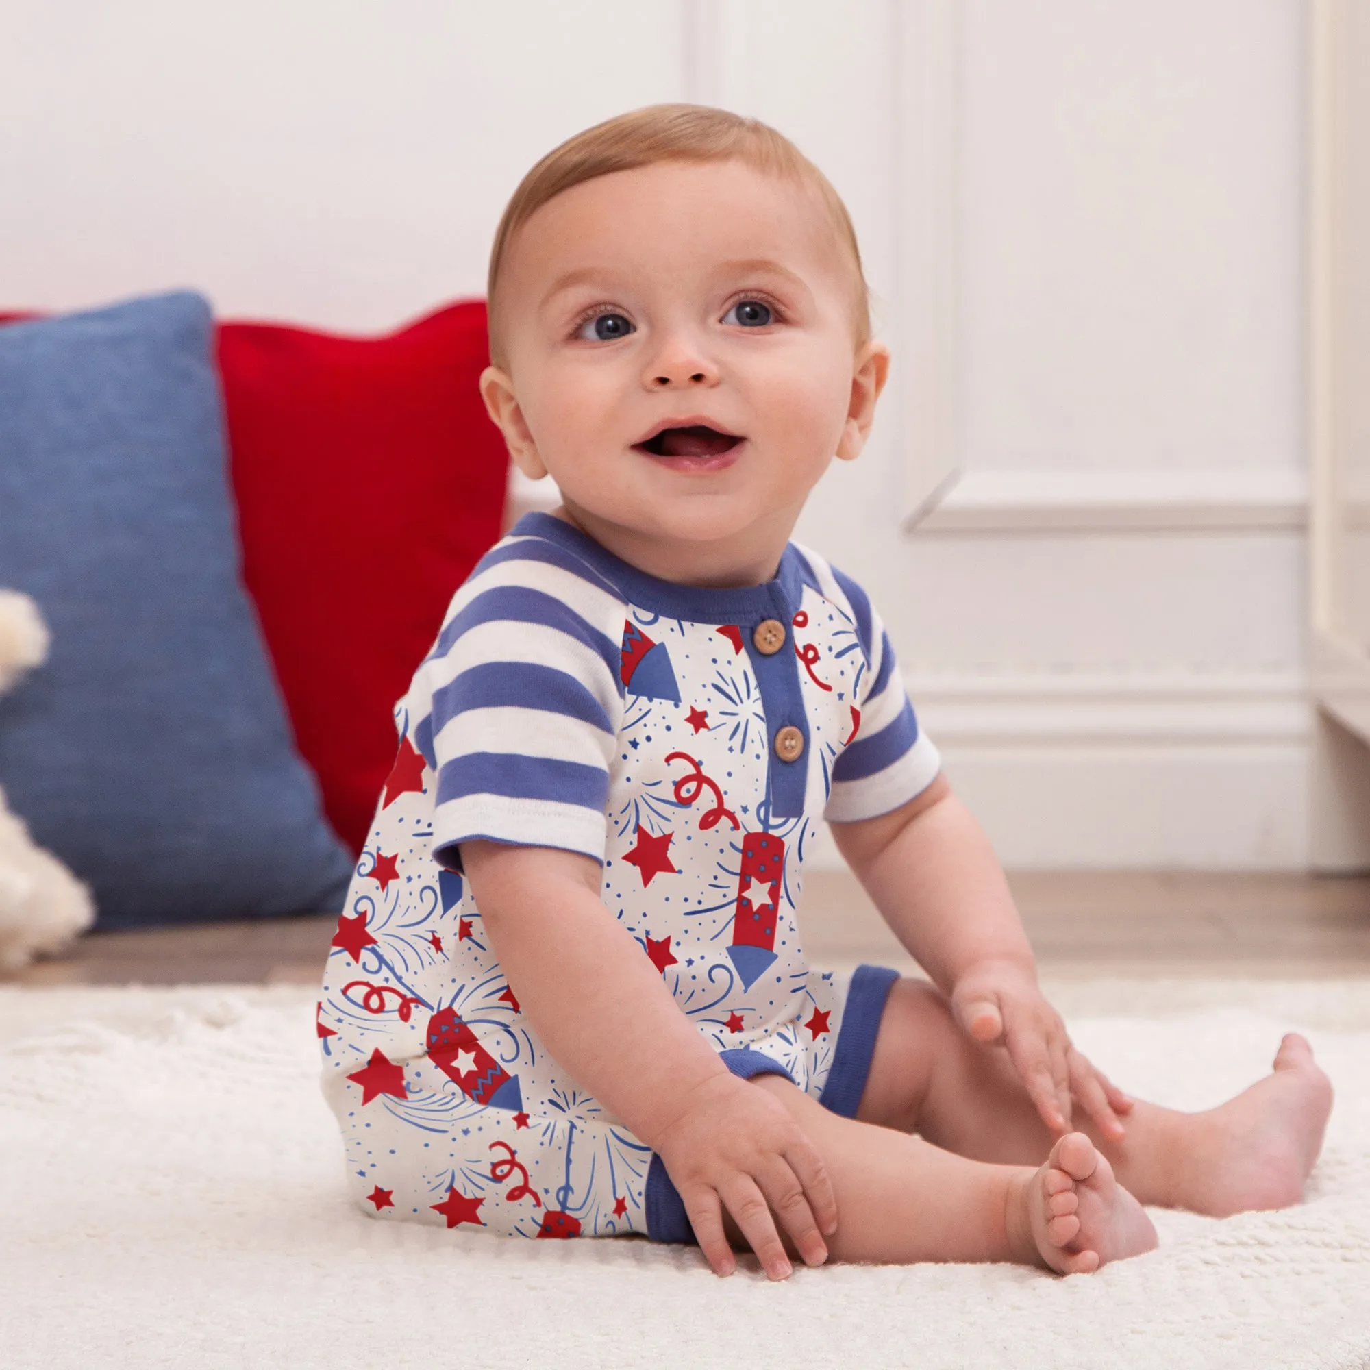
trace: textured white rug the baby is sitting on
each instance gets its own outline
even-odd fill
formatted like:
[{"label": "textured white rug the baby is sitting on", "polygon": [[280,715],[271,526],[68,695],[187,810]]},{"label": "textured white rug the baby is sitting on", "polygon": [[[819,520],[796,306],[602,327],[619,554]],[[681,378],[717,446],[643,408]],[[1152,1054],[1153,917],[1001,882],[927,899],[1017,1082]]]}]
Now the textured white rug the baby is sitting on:
[{"label": "textured white rug the baby is sitting on", "polygon": [[1075,1040],[1184,1108],[1307,1030],[1337,1086],[1308,1201],[1223,1222],[1158,1210],[1158,1252],[1070,1280],[834,1266],[721,1281],[686,1248],[355,1212],[306,991],[0,991],[0,1365],[1370,1366],[1370,982],[1056,999],[1111,1014],[1073,1017]]}]

